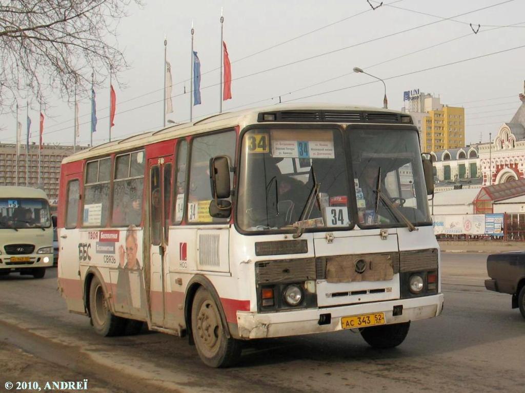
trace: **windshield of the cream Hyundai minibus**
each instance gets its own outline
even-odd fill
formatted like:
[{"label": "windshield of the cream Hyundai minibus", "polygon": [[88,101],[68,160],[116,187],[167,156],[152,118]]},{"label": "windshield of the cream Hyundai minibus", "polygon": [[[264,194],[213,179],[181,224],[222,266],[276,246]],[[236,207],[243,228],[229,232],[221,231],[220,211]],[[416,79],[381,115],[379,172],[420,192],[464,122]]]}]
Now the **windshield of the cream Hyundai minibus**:
[{"label": "windshield of the cream Hyundai minibus", "polygon": [[0,198],[0,229],[48,228],[50,225],[46,200]]}]

